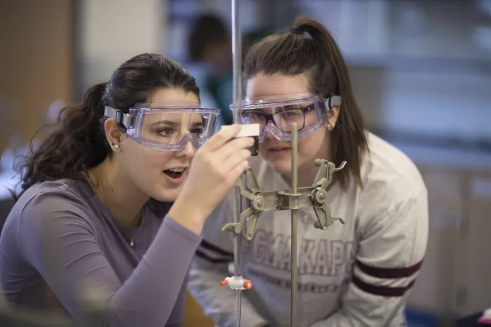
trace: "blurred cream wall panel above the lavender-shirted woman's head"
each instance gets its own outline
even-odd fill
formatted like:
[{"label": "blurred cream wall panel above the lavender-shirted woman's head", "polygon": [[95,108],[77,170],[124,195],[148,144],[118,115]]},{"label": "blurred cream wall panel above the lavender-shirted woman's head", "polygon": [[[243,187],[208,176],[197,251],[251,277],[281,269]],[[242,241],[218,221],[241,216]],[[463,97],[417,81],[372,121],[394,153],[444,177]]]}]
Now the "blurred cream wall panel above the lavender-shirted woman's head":
[{"label": "blurred cream wall panel above the lavender-shirted woman's head", "polygon": [[107,81],[134,55],[162,53],[166,1],[84,0],[79,7],[79,91]]}]

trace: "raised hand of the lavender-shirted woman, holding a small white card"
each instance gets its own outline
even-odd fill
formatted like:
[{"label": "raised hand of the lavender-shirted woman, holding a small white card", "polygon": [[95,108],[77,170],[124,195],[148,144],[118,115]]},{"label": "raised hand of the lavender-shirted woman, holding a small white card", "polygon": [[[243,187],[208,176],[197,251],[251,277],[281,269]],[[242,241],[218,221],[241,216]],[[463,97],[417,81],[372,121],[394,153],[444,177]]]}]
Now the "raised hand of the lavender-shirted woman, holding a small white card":
[{"label": "raised hand of the lavender-shirted woman, holding a small white card", "polygon": [[248,168],[248,147],[254,139],[234,139],[240,131],[240,125],[224,128],[196,152],[182,192],[170,208],[170,217],[196,234]]}]

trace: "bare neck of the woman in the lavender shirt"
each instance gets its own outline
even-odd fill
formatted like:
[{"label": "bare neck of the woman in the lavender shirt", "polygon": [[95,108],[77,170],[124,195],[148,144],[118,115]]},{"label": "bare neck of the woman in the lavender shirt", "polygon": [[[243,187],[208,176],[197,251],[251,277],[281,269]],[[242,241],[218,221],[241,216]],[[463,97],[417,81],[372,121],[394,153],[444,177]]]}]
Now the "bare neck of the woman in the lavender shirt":
[{"label": "bare neck of the woman in the lavender shirt", "polygon": [[128,180],[112,159],[107,157],[89,171],[97,196],[105,203],[116,220],[128,227],[137,227],[142,220],[143,206],[149,196]]}]

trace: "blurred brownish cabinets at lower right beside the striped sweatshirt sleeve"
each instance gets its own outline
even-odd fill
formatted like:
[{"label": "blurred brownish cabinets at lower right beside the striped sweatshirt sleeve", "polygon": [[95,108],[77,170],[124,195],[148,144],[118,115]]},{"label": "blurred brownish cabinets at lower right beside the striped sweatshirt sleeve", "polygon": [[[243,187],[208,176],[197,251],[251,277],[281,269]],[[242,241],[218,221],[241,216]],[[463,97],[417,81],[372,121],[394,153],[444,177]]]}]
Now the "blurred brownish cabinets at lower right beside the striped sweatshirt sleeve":
[{"label": "blurred brownish cabinets at lower right beside the striped sweatshirt sleeve", "polygon": [[491,172],[420,169],[429,191],[429,243],[408,307],[439,317],[491,307]]}]

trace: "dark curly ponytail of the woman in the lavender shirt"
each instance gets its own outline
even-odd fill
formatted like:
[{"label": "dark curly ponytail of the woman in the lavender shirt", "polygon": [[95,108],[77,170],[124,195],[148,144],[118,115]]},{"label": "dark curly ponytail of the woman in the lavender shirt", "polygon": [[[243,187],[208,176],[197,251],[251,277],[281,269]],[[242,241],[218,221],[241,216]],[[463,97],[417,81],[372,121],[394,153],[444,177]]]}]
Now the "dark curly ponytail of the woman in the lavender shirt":
[{"label": "dark curly ponytail of the woman in the lavender shirt", "polygon": [[62,109],[58,128],[39,149],[34,150],[31,142],[31,151],[20,163],[20,194],[12,192],[15,201],[37,182],[63,178],[83,180],[84,171],[107,157],[110,148],[101,121],[106,87],[107,83],[97,84],[88,89],[79,107]]}]

